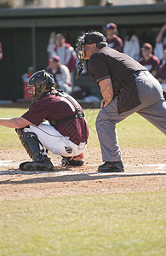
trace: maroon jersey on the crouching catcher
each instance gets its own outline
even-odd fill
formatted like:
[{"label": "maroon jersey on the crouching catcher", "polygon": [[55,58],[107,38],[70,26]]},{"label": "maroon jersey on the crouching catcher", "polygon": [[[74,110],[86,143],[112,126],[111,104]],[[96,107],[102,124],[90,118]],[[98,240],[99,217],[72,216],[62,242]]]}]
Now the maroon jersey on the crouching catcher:
[{"label": "maroon jersey on the crouching catcher", "polygon": [[[77,105],[79,106],[78,103]],[[81,107],[79,106],[79,108]],[[33,103],[22,117],[30,121],[31,124],[40,125],[43,119],[48,121],[65,119],[74,113],[76,113],[76,109],[65,97],[50,94],[41,97],[38,102]],[[87,143],[89,128],[84,118],[64,121],[54,125],[54,128],[64,137],[69,137],[72,143],[77,145],[79,143]]]}]

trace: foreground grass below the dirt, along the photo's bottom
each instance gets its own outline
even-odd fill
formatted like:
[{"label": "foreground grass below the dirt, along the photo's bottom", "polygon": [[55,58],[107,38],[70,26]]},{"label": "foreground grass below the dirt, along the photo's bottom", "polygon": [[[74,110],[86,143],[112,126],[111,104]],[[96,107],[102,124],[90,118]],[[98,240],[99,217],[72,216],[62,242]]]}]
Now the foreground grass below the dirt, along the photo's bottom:
[{"label": "foreground grass below the dirt, along the photo's bottom", "polygon": [[0,201],[0,255],[166,252],[165,192]]}]

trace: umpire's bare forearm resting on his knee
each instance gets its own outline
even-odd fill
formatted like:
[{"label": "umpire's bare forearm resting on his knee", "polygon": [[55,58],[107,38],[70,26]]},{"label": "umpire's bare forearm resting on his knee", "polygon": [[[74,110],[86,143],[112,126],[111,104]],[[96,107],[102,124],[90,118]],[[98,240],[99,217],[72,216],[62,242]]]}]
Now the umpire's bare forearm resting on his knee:
[{"label": "umpire's bare forearm resting on his knee", "polygon": [[99,82],[100,92],[103,96],[103,100],[100,104],[100,108],[105,108],[110,102],[112,102],[113,98],[113,89],[112,89],[112,80],[104,79]]}]

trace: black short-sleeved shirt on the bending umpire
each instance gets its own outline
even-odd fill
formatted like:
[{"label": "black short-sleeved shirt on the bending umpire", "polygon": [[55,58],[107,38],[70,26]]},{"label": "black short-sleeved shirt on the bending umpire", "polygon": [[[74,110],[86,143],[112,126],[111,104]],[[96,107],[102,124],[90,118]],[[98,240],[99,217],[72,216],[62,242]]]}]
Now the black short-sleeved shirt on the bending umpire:
[{"label": "black short-sleeved shirt on the bending umpire", "polygon": [[140,104],[133,73],[146,70],[128,55],[107,46],[97,50],[89,58],[89,73],[95,83],[112,80],[114,96],[117,96],[118,113],[128,111]]}]

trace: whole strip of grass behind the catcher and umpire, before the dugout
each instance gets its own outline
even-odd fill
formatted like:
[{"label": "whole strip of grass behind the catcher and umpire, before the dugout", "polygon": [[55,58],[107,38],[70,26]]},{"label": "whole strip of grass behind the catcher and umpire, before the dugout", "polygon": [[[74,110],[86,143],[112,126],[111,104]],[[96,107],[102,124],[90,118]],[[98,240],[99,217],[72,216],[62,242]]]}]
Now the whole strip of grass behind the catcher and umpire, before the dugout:
[{"label": "whole strip of grass behind the catcher and umpire, before the dugout", "polygon": [[[1,108],[1,117],[19,117],[26,112],[25,108]],[[85,109],[89,124],[88,148],[99,148],[95,119],[99,109]],[[14,129],[0,126],[0,149],[21,148]],[[121,148],[165,148],[166,137],[151,123],[134,113],[117,124],[117,135]]]}]

